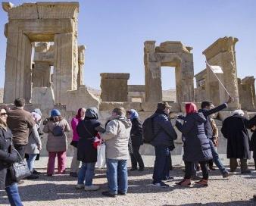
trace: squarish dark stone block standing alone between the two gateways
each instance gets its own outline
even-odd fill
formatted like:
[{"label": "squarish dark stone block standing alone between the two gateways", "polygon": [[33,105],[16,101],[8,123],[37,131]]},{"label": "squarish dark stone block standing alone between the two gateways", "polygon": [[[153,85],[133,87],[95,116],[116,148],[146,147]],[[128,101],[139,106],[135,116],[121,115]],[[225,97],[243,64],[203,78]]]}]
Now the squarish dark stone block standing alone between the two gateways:
[{"label": "squarish dark stone block standing alone between the two gateways", "polygon": [[130,73],[101,73],[101,100],[128,101]]}]

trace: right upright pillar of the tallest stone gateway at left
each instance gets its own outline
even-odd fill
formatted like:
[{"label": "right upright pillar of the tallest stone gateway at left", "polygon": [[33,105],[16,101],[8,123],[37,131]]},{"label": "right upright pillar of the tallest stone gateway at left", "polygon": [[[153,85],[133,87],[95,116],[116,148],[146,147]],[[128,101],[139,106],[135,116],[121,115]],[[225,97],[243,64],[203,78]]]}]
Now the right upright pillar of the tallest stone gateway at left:
[{"label": "right upright pillar of the tallest stone gateway at left", "polygon": [[73,33],[55,35],[53,89],[55,92],[55,103],[61,103],[63,105],[66,103],[67,90],[76,90],[77,88],[77,60],[74,57],[74,51],[77,50],[77,47],[73,38]]}]

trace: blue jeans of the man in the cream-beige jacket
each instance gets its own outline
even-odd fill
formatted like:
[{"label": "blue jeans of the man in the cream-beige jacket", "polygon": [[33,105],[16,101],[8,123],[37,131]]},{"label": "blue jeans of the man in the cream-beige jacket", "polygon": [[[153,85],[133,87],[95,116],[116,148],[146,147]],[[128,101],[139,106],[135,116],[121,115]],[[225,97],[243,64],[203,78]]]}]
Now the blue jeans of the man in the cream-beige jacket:
[{"label": "blue jeans of the man in the cream-beige jacket", "polygon": [[127,161],[107,159],[108,192],[126,193],[128,189]]}]

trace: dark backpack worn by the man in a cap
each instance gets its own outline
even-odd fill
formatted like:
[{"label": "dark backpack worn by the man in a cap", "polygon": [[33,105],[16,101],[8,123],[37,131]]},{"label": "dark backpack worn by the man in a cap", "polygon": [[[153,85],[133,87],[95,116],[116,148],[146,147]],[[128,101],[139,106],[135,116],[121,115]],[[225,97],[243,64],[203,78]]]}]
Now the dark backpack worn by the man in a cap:
[{"label": "dark backpack worn by the man in a cap", "polygon": [[148,117],[145,119],[145,121],[142,124],[142,133],[143,133],[143,142],[144,143],[150,143],[153,139],[155,139],[155,136],[158,135],[154,134],[154,118],[156,115],[152,115],[151,117]]}]

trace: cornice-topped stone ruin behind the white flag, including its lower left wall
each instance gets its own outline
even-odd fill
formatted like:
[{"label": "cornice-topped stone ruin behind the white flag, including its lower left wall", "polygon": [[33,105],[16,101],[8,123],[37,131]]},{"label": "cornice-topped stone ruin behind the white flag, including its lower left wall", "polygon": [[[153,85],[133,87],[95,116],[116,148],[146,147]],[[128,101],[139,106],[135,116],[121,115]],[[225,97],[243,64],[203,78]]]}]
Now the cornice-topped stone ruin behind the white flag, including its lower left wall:
[{"label": "cornice-topped stone ruin behind the white flag, including its lower left wall", "polygon": [[[203,51],[203,55],[205,55],[209,64],[217,65],[222,68],[223,73],[218,74],[218,77],[223,82],[223,85],[226,87],[227,91],[229,91],[230,95],[235,99],[229,106],[233,109],[240,108],[239,87],[236,72],[236,42],[238,42],[237,38],[223,37],[217,39],[217,41]],[[212,71],[207,69],[207,84],[205,84],[205,91],[207,98],[218,105],[221,102],[226,101],[228,95],[213,75]]]}]

